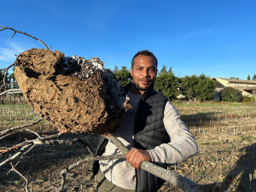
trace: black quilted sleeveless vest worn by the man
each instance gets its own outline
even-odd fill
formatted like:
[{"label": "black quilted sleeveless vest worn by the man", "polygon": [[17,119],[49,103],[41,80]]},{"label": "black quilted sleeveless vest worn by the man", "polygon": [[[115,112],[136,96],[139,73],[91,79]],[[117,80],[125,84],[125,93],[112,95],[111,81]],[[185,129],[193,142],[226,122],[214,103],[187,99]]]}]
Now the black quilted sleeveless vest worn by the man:
[{"label": "black quilted sleeveless vest worn by the man", "polygon": [[[130,90],[131,84],[125,87],[125,90]],[[166,96],[157,93],[153,88],[146,90],[139,102],[137,108],[137,117],[134,125],[134,147],[142,149],[152,149],[161,143],[169,143],[170,137],[164,127],[164,110]],[[107,145],[107,139],[101,139],[96,148],[96,155],[103,154]],[[93,172],[96,174],[99,166],[95,162]],[[160,177],[156,177],[151,173],[136,169],[137,177],[137,192],[156,192],[164,183]]]}]

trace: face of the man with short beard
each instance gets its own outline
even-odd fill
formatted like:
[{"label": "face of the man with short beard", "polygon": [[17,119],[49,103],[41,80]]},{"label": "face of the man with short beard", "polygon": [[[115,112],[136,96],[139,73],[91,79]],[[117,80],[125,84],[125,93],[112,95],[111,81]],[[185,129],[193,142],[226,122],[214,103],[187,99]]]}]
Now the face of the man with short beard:
[{"label": "face of the man with short beard", "polygon": [[133,67],[131,67],[131,77],[136,89],[141,94],[154,85],[156,74],[157,69],[151,56],[137,55],[134,58]]}]

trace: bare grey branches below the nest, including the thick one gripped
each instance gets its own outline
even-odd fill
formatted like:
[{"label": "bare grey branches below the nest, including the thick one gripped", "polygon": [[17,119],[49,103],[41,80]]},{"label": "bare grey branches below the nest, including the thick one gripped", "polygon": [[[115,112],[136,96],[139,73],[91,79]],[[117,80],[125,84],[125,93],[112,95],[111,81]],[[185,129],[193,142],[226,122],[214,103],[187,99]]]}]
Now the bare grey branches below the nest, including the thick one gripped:
[{"label": "bare grey branches below the nest, including the thick one gripped", "polygon": [[[59,137],[61,137],[61,135],[63,134],[61,132],[57,134],[49,135],[49,136],[40,136],[38,132],[32,131],[29,129],[29,127],[31,127],[32,125],[38,124],[42,120],[43,119],[38,119],[38,121],[30,125],[16,126],[0,132],[0,141],[20,131],[29,131],[32,134],[34,134],[34,136],[36,137],[35,139],[26,140],[22,143],[15,144],[14,146],[11,146],[9,148],[4,148],[4,147],[0,148],[0,155],[2,157],[3,155],[6,156],[6,159],[0,162],[0,167],[10,165],[11,166],[10,171],[16,172],[20,177],[22,177],[22,179],[24,179],[26,183],[25,184],[26,192],[29,192],[29,181],[21,172],[19,172],[19,170],[15,168],[15,166],[17,166],[19,163],[22,163],[22,157],[30,153],[32,151],[32,148],[35,148],[36,146],[39,146],[39,145],[45,146],[45,145],[51,145],[51,144],[73,145],[76,143],[82,143],[90,153],[90,155],[85,156],[83,160],[74,162],[72,165],[68,166],[67,168],[63,169],[60,172],[61,183],[59,187],[55,187],[55,191],[62,191],[64,189],[67,173],[73,171],[73,169],[79,167],[80,165],[84,163],[92,162],[94,160],[125,159],[125,154],[128,152],[128,149],[125,148],[125,146],[113,136],[106,136],[106,138],[108,138],[110,142],[112,142],[115,146],[117,146],[117,148],[119,148],[119,150],[123,154],[110,155],[110,156],[95,156],[93,150],[90,148],[90,145],[84,140],[84,137],[75,137],[73,139],[60,139]],[[14,151],[15,153],[13,153]],[[15,165],[13,164],[14,161],[17,162],[15,163]],[[177,188],[183,189],[183,191],[188,191],[188,192],[190,191],[222,191],[221,190],[222,186],[218,183],[199,185],[187,177],[182,177],[175,172],[168,171],[160,166],[155,166],[154,164],[148,161],[143,161],[141,168],[143,170],[151,172],[152,174],[158,177],[165,179],[167,182],[170,182],[174,186],[177,186]]]}]

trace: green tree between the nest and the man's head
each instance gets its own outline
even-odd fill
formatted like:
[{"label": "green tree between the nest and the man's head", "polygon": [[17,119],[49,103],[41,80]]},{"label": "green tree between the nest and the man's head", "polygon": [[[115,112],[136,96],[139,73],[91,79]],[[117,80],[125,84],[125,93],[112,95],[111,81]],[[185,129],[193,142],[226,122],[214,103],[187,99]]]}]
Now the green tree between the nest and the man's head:
[{"label": "green tree between the nest and the man's head", "polygon": [[119,81],[119,83],[124,87],[126,84],[131,83],[131,73],[127,69],[127,67],[122,67],[120,70],[119,67],[115,66],[113,73],[115,78]]}]

